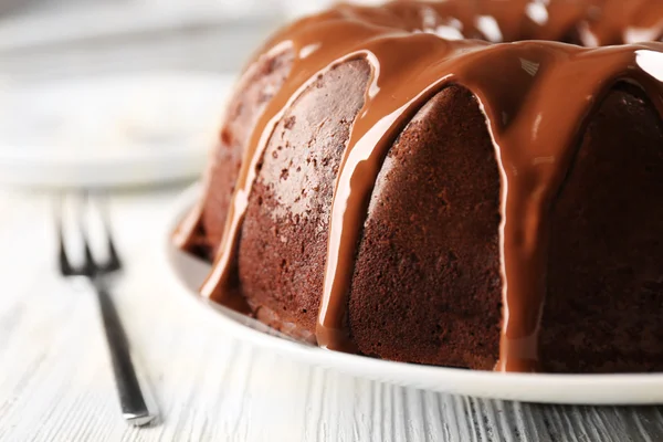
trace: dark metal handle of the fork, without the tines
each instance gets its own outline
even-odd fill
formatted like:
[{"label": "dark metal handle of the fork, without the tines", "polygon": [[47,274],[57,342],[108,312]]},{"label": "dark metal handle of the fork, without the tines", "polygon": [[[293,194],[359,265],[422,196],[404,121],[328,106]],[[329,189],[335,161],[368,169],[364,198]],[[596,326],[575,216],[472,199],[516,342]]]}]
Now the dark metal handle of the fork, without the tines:
[{"label": "dark metal handle of the fork, without the tines", "polygon": [[156,411],[152,411],[154,402],[149,400],[151,397],[147,396],[147,385],[146,382],[140,382],[145,378],[139,378],[131,361],[129,343],[122,327],[110,294],[102,284],[95,282],[93,285],[97,294],[99,311],[104,322],[104,332],[113,364],[122,414],[133,425],[145,425],[157,415]]}]

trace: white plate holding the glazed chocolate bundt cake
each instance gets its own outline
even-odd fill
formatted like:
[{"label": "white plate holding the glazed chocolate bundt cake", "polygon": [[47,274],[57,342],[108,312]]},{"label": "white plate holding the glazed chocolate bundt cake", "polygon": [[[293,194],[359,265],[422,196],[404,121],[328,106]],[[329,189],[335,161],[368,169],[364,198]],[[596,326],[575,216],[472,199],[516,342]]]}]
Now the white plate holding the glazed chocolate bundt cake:
[{"label": "white plate holding the glazed chocolate bundt cake", "polygon": [[[372,359],[323,350],[295,343],[275,330],[207,302],[197,288],[210,266],[175,248],[170,233],[200,194],[200,187],[189,189],[175,204],[164,238],[165,272],[172,292],[187,299],[200,315],[213,315],[238,339],[287,355],[302,362],[337,369],[361,378],[406,387],[525,402],[566,404],[653,404],[663,403],[663,373],[656,375],[529,375],[473,371],[420,366]],[[265,333],[266,332],[266,333]]]}]

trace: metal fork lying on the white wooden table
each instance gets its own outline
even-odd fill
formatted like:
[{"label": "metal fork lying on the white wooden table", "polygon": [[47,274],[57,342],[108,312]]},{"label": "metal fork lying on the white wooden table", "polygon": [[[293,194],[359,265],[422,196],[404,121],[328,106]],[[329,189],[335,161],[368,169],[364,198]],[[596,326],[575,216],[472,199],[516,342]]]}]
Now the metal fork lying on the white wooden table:
[{"label": "metal fork lying on the white wooden table", "polygon": [[92,252],[88,238],[88,224],[84,220],[84,214],[85,209],[93,204],[90,204],[88,192],[83,192],[76,227],[81,238],[84,257],[82,265],[77,266],[72,264],[72,260],[70,259],[65,246],[63,206],[64,197],[61,196],[55,211],[60,273],[64,277],[83,277],[87,280],[92,288],[94,288],[113,365],[113,373],[115,376],[115,386],[117,388],[122,414],[124,419],[133,425],[145,425],[151,422],[157,417],[157,413],[154,402],[150,400],[151,397],[148,396],[148,391],[146,390],[146,383],[140,382],[144,378],[139,378],[139,373],[136,371],[131,361],[129,343],[108,291],[108,276],[122,270],[123,265],[110,234],[110,227],[105,206],[97,207],[97,209],[101,209],[98,210],[103,225],[101,230],[105,236],[104,242],[106,243],[107,250],[107,257],[102,262],[101,260],[96,260]]}]

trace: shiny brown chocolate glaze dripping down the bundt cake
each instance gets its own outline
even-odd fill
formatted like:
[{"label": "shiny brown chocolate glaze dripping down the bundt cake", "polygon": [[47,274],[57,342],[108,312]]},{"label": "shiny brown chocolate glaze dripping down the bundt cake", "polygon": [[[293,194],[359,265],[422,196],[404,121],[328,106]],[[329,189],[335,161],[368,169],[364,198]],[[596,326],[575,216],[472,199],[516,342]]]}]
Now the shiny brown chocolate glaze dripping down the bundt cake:
[{"label": "shiny brown chocolate glaze dripping down the bundt cake", "polygon": [[[663,45],[583,49],[660,36],[654,1],[567,0],[341,4],[284,30],[265,49],[292,50],[290,76],[266,105],[248,144],[213,271],[201,293],[230,303],[239,234],[256,167],[284,112],[323,72],[365,59],[372,67],[338,171],[329,224],[318,345],[355,350],[347,329],[348,291],[367,204],[387,150],[413,115],[451,84],[480,102],[502,176],[503,371],[538,367],[546,293],[549,209],[576,155],[588,116],[618,81],[639,85],[663,112]],[[646,31],[646,32],[645,32]],[[440,35],[446,35],[442,38]],[[451,39],[482,39],[451,40]],[[200,212],[198,209],[197,213]],[[193,213],[180,244],[194,236]],[[236,299],[234,299],[236,302]]]}]

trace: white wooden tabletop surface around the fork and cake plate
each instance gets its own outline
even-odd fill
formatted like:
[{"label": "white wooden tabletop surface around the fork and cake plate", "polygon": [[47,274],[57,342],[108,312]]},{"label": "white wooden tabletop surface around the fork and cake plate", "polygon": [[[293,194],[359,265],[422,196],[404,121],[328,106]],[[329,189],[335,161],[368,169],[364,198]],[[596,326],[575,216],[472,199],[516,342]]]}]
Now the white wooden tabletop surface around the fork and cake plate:
[{"label": "white wooden tabletop surface around the fork and cake plate", "polygon": [[485,401],[303,366],[224,336],[164,282],[159,229],[180,188],[112,199],[119,313],[161,412],[118,414],[94,297],[54,271],[50,197],[0,191],[0,441],[661,441],[663,407]]}]

